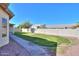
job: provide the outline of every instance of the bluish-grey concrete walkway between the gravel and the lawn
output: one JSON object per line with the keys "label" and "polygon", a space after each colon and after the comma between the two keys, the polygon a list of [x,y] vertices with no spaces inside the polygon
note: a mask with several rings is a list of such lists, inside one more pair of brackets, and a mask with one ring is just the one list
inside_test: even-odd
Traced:
{"label": "bluish-grey concrete walkway between the gravel and the lawn", "polygon": [[32,42],[26,41],[12,34],[10,34],[10,38],[15,40],[22,47],[24,47],[31,56],[51,56],[51,54],[47,50],[45,50],[41,46],[33,44]]}

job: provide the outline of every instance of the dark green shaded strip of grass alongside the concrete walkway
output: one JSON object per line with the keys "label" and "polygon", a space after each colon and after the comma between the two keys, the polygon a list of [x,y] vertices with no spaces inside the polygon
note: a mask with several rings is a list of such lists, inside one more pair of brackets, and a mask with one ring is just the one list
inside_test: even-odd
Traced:
{"label": "dark green shaded strip of grass alongside the concrete walkway", "polygon": [[48,47],[51,51],[53,51],[54,55],[56,55],[56,49],[57,49],[57,43],[56,42],[51,42],[43,38],[39,37],[31,37],[28,35],[22,35],[20,33],[15,33],[16,36],[23,38],[24,40],[31,41],[32,43],[35,43],[40,46],[45,46]]}

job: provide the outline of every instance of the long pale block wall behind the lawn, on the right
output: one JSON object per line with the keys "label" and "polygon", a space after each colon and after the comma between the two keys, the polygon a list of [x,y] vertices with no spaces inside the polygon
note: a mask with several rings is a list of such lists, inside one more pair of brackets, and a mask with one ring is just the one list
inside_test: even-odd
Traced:
{"label": "long pale block wall behind the lawn, on the right", "polygon": [[78,37],[79,29],[37,29],[35,33]]}

